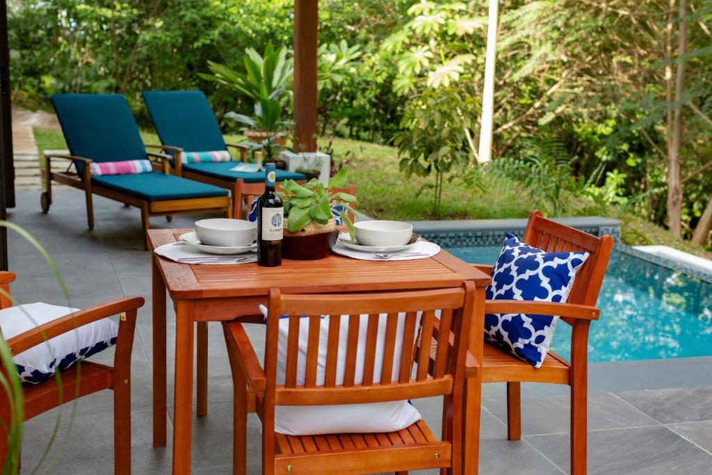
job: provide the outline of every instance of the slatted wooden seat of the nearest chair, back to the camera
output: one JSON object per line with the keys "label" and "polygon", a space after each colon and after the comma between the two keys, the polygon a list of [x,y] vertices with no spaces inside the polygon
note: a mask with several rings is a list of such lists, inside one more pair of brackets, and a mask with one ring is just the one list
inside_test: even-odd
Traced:
{"label": "slatted wooden seat of the nearest chair, back to the camera", "polygon": [[[353,464],[345,464],[339,474],[365,474],[403,469],[403,461],[412,463],[409,469],[448,466],[451,460],[449,442],[434,436],[423,420],[397,432],[375,434],[326,434],[290,436],[275,434],[276,471],[292,474],[323,473],[320,464],[336,454],[353,453]],[[373,449],[373,450],[371,450]],[[384,456],[392,450],[393,458]],[[373,456],[371,456],[373,455]]]}

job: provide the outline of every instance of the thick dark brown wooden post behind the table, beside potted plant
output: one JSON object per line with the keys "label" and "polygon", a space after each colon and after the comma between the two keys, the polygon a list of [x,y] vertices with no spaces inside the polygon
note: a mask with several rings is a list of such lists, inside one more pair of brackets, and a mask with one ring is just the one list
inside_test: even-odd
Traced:
{"label": "thick dark brown wooden post behind the table, beside potted plant", "polygon": [[294,0],[294,146],[316,151],[318,0]]}

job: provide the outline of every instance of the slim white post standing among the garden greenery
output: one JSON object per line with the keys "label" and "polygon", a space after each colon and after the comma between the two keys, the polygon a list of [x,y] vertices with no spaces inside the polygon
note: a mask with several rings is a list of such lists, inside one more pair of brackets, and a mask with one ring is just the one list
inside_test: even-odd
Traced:
{"label": "slim white post standing among the garden greenery", "polygon": [[487,21],[487,52],[485,56],[485,81],[482,93],[482,119],[480,121],[480,150],[478,162],[492,160],[492,122],[494,117],[494,71],[497,47],[497,3],[489,0]]}

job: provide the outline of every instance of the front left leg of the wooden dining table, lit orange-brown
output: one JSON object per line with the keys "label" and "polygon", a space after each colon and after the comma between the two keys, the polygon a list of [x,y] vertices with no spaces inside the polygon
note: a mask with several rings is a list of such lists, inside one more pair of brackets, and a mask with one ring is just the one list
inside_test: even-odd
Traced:
{"label": "front left leg of the wooden dining table, lit orange-brown", "polygon": [[194,322],[191,301],[176,301],[176,367],[173,407],[173,473],[189,474],[193,417]]}

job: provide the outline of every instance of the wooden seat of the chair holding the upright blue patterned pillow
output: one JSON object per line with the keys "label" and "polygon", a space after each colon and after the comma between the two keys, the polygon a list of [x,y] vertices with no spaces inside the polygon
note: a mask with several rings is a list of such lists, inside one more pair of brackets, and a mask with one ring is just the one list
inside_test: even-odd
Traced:
{"label": "wooden seat of the chair holding the upright blue patterned pillow", "polygon": [[528,381],[569,384],[570,364],[550,351],[541,367],[533,367],[495,345],[485,343],[482,382]]}

